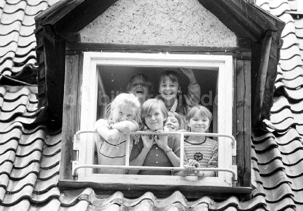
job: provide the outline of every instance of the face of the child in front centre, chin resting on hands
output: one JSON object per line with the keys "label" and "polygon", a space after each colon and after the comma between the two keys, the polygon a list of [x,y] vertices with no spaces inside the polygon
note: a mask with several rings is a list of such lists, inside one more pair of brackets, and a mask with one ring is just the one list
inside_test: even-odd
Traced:
{"label": "face of the child in front centre, chin resting on hands", "polygon": [[159,107],[148,113],[144,118],[149,129],[163,130],[165,118]]}

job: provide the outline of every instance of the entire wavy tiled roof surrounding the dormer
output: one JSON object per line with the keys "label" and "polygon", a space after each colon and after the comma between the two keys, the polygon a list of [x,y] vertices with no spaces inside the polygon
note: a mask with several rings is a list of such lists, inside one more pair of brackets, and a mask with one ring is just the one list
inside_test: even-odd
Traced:
{"label": "entire wavy tiled roof surrounding the dormer", "polygon": [[[0,73],[35,64],[34,16],[55,1],[0,0]],[[251,200],[188,201],[178,191],[164,199],[149,192],[136,199],[121,192],[102,197],[91,188],[60,192],[61,133],[22,125],[35,120],[37,87],[0,85],[0,210],[303,210],[303,19],[288,13],[297,9],[296,0],[256,3],[286,26],[271,109],[275,129],[251,141]]]}

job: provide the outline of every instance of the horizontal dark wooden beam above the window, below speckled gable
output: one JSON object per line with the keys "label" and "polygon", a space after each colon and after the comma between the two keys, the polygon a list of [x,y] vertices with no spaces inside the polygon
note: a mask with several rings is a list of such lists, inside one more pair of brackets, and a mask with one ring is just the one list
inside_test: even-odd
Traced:
{"label": "horizontal dark wooden beam above the window, below speckled gable", "polygon": [[127,52],[127,53],[171,53],[171,54],[216,54],[232,55],[235,58],[251,59],[250,48],[201,47],[166,45],[130,45],[102,43],[66,43],[66,54],[81,54],[83,51]]}

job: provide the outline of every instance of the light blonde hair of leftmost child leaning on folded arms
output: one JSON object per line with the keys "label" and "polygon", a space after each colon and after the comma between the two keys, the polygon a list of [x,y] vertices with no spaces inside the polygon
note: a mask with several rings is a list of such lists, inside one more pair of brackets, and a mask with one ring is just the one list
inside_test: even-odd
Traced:
{"label": "light blonde hair of leftmost child leaning on folded arms", "polygon": [[108,120],[112,120],[113,123],[116,123],[117,120],[113,119],[114,112],[118,108],[118,105],[124,104],[130,105],[135,110],[134,120],[138,122],[138,124],[141,123],[139,112],[140,102],[138,98],[131,93],[121,93],[116,96],[115,99],[106,106],[105,118]]}

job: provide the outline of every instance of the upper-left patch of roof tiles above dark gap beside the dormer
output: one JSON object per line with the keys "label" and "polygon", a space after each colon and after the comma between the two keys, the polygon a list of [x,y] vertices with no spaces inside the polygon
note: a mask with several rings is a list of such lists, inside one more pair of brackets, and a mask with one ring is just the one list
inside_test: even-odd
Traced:
{"label": "upper-left patch of roof tiles above dark gap beside the dormer", "polygon": [[34,17],[55,0],[0,1],[0,71],[6,75],[19,72],[36,62]]}

